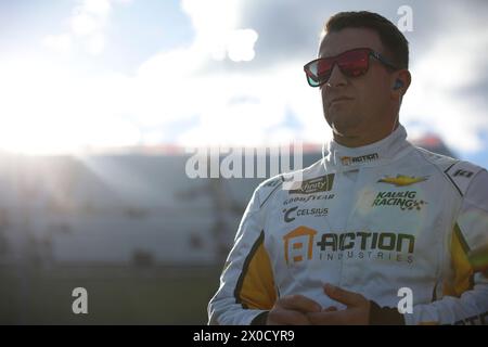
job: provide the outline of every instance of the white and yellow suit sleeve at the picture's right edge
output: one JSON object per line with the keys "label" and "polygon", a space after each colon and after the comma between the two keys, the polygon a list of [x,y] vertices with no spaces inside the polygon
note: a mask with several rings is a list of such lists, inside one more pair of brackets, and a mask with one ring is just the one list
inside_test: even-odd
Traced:
{"label": "white and yellow suit sleeve at the picture's right edge", "polygon": [[488,324],[488,174],[466,187],[449,240],[449,275],[442,298],[415,305],[407,324]]}

